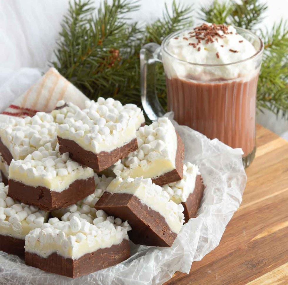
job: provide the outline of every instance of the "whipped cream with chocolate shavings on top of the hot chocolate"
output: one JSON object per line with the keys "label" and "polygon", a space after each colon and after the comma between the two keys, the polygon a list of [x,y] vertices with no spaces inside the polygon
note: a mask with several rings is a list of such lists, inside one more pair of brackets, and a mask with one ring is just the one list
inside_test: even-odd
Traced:
{"label": "whipped cream with chocolate shavings on top of the hot chocolate", "polygon": [[[248,59],[256,53],[255,47],[233,26],[202,24],[185,30],[171,38],[167,45],[168,53],[177,59],[194,64],[230,64]],[[246,61],[227,66],[205,67],[175,60],[163,53],[163,64],[169,78],[221,79],[237,78],[255,70],[255,62]]]}

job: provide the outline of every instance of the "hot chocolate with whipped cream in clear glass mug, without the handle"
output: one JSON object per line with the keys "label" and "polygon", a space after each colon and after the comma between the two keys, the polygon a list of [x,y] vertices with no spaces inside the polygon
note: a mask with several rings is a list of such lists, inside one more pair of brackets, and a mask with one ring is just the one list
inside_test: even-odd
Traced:
{"label": "hot chocolate with whipped cream in clear glass mug, without the handle", "polygon": [[179,124],[242,148],[244,160],[248,158],[246,166],[255,154],[262,52],[261,41],[255,44],[249,33],[232,26],[203,24],[168,37],[162,44],[168,110],[174,111]]}

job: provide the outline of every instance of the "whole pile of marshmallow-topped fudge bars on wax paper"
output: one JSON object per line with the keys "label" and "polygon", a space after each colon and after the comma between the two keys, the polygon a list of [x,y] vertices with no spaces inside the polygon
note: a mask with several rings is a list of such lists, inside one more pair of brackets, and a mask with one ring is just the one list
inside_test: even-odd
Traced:
{"label": "whole pile of marshmallow-topped fudge bars on wax paper", "polygon": [[145,125],[113,98],[85,106],[0,129],[0,250],[72,278],[126,260],[129,240],[172,246],[204,191],[168,118]]}

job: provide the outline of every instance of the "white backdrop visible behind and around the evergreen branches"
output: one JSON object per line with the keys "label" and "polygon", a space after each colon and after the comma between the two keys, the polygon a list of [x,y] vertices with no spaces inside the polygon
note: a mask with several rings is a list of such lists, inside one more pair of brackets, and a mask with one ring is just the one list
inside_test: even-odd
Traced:
{"label": "white backdrop visible behind and around the evergreen branches", "polygon": [[[193,4],[197,11],[200,3],[211,1],[182,0],[182,3]],[[172,0],[142,0],[140,11],[131,16],[138,21],[151,22],[161,16],[165,2],[169,6]],[[287,19],[288,1],[267,2],[269,11],[261,27],[271,28],[281,17]],[[95,3],[97,6],[100,0]],[[0,112],[48,69],[67,8],[67,0],[0,1]],[[196,12],[192,14],[195,16]],[[269,112],[259,114],[258,121],[288,139],[287,121],[277,120]],[[286,135],[283,134],[285,131]]]}

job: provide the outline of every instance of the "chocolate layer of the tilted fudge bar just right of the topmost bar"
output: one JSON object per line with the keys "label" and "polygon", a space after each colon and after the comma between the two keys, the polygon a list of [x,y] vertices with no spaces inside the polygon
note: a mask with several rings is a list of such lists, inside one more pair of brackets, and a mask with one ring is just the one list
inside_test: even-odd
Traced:
{"label": "chocolate layer of the tilted fudge bar just right of the topmost bar", "polygon": [[170,182],[181,180],[183,177],[183,159],[184,159],[184,143],[177,134],[177,152],[176,152],[176,158],[175,158],[175,169],[172,171],[166,172],[161,176],[158,176],[156,178],[152,178],[152,182],[157,185],[165,185],[169,184]]}

